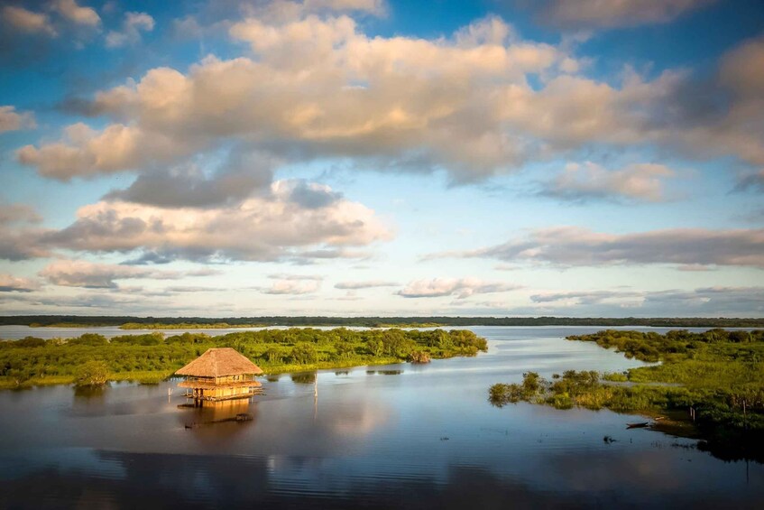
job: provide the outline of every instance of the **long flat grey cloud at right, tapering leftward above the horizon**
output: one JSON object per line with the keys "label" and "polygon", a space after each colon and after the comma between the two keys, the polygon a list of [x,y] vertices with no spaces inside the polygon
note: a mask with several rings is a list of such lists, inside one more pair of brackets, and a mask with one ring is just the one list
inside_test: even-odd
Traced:
{"label": "long flat grey cloud at right, tapering leftward above the horizon", "polygon": [[470,252],[435,256],[496,258],[558,265],[738,265],[764,268],[764,229],[676,228],[605,234],[581,227],[539,229],[529,236]]}

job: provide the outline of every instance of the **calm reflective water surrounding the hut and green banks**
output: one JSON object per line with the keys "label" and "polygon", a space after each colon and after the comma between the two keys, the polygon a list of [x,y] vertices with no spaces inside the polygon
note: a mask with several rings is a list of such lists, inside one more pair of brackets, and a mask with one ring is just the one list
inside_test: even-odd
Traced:
{"label": "calm reflective water surrounding the hut and green banks", "polygon": [[[626,430],[632,416],[487,402],[528,370],[640,364],[564,339],[597,328],[470,329],[488,354],[319,372],[318,398],[313,375],[201,409],[168,395],[177,381],[0,392],[0,508],[760,507],[760,464]],[[209,424],[236,413],[254,420]]]}

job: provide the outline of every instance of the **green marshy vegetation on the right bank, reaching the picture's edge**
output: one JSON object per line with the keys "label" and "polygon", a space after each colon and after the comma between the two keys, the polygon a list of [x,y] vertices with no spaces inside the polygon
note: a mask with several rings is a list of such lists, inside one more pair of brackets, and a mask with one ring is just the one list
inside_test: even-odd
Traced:
{"label": "green marshy vegetation on the right bank, reaching the picture's edge", "polygon": [[716,457],[764,461],[764,330],[609,329],[567,339],[660,363],[623,374],[569,370],[551,381],[529,372],[520,384],[492,385],[491,403],[643,414],[658,419],[653,429],[700,439]]}

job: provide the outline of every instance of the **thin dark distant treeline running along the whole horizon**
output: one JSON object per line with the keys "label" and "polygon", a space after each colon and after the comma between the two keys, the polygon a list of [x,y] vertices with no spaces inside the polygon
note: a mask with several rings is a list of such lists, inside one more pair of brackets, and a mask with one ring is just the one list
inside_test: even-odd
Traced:
{"label": "thin dark distant treeline running along the whole horizon", "polygon": [[216,324],[231,326],[651,326],[662,328],[764,328],[764,319],[735,318],[576,318],[576,317],[132,317],[79,315],[14,315],[0,317],[0,325],[121,326],[134,324]]}

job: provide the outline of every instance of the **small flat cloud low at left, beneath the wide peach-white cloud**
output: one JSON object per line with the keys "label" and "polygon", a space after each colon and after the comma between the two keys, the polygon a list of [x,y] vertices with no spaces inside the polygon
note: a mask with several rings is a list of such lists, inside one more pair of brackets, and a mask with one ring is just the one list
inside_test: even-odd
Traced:
{"label": "small flat cloud low at left, beneath the wide peach-white cloud", "polygon": [[116,280],[149,278],[152,280],[179,280],[188,276],[206,276],[202,272],[161,271],[146,267],[120,264],[97,264],[84,260],[60,260],[44,267],[40,276],[48,282],[65,287],[88,289],[116,289]]}

